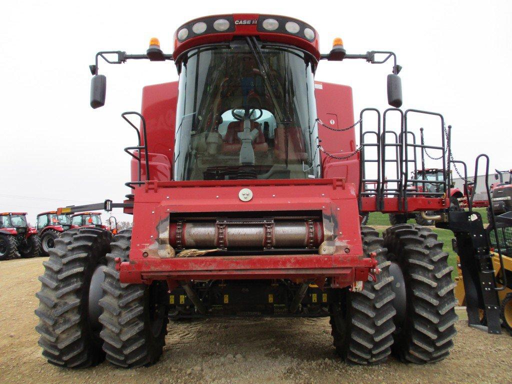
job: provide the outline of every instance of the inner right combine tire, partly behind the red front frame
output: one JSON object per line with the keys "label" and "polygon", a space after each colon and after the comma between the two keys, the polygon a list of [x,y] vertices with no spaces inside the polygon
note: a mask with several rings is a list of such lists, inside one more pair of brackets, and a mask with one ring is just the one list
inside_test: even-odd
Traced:
{"label": "inner right combine tire, partly behind the red front frame", "polygon": [[376,282],[365,282],[361,292],[336,290],[338,300],[331,306],[330,323],[338,355],[349,364],[375,365],[391,353],[395,294],[382,239],[371,227],[362,227],[361,234],[364,253],[377,254],[380,273]]}

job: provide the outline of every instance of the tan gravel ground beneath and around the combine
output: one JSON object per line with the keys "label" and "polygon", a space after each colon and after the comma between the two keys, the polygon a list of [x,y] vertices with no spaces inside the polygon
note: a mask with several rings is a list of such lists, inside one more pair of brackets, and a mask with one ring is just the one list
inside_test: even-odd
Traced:
{"label": "tan gravel ground beneath and around the combine", "polygon": [[512,383],[512,337],[468,328],[462,320],[451,356],[427,366],[394,358],[376,367],[348,366],[334,354],[326,318],[251,318],[169,324],[164,354],[151,368],[104,362],[61,369],[41,356],[34,330],[43,260],[0,262],[2,383]]}

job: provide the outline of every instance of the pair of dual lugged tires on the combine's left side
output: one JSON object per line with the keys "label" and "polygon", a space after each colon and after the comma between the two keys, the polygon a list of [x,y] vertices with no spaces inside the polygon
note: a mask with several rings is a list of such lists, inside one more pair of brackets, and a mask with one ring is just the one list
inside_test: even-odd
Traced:
{"label": "pair of dual lugged tires on the combine's left side", "polygon": [[[162,353],[167,317],[151,297],[161,287],[120,284],[115,259],[127,260],[130,231],[79,228],[49,249],[36,294],[42,354],[68,368],[95,366],[105,357],[121,367],[151,365]],[[105,292],[105,293],[103,293]]]}

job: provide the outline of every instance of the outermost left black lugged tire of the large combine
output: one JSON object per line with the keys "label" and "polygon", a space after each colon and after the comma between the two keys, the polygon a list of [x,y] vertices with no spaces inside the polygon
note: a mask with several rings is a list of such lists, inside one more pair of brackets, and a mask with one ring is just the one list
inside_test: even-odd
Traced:
{"label": "outermost left black lugged tire of the large combine", "polygon": [[104,359],[99,329],[89,316],[89,290],[94,271],[106,263],[110,240],[110,232],[103,229],[72,229],[55,240],[50,258],[42,263],[36,331],[42,355],[51,364],[86,368]]}

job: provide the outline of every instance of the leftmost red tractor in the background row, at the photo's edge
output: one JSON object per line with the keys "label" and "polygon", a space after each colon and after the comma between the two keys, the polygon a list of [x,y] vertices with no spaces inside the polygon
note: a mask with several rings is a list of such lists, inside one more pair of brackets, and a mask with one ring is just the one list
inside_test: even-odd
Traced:
{"label": "leftmost red tractor in the background row, at the photo's edge", "polygon": [[0,213],[0,260],[40,256],[37,230],[27,224],[26,212]]}

